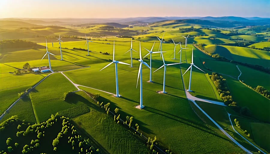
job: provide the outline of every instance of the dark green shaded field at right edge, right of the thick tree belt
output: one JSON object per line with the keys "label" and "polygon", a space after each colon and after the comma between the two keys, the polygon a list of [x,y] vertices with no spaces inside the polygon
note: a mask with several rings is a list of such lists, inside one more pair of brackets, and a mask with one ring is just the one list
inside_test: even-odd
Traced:
{"label": "dark green shaded field at right edge, right of the thick tree belt", "polygon": [[237,102],[239,106],[247,106],[251,111],[252,117],[263,122],[270,122],[269,99],[246,87],[237,80],[226,76],[224,76],[224,78],[226,78],[232,99]]}

